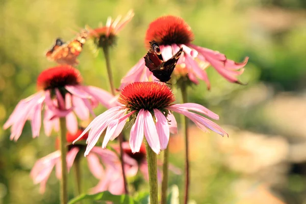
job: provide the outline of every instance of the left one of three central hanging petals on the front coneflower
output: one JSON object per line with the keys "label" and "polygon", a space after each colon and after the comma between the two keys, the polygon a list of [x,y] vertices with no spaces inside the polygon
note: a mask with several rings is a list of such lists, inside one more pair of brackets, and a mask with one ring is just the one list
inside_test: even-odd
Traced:
{"label": "left one of three central hanging petals on the front coneflower", "polygon": [[130,134],[130,146],[132,152],[138,152],[144,135],[144,110],[141,109],[137,115],[136,121],[132,126]]}

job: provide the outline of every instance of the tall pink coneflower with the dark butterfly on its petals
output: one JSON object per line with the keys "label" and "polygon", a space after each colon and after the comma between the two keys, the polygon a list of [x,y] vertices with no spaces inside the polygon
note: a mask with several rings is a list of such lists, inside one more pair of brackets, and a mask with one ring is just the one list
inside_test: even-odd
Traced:
{"label": "tall pink coneflower with the dark butterfly on its petals", "polygon": [[[186,76],[188,73],[189,80],[195,84],[198,84],[198,78],[205,81],[210,89],[210,81],[205,71],[209,65],[214,67],[227,81],[241,84],[237,76],[243,73],[243,67],[248,61],[247,57],[242,63],[228,60],[224,54],[192,44],[193,38],[191,28],[183,18],[162,16],[150,23],[145,36],[145,44],[149,47],[149,42],[155,40],[160,46],[164,61],[170,59],[182,47],[184,54],[176,67],[179,67],[180,74],[184,73]],[[148,71],[142,58],[121,80],[120,89],[128,83],[146,81],[150,76],[152,73]]]}

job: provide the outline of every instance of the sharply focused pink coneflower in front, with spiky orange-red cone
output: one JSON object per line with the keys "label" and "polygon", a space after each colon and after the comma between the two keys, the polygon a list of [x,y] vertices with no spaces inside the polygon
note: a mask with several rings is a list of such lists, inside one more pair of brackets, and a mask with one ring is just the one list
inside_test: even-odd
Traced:
{"label": "sharply focused pink coneflower in front, with spiky orange-red cone", "polygon": [[118,98],[121,106],[113,107],[97,116],[80,135],[79,138],[90,130],[86,140],[88,145],[85,156],[89,154],[100,135],[107,129],[102,143],[102,147],[106,148],[107,143],[120,134],[127,119],[133,122],[130,133],[132,152],[140,151],[145,136],[151,149],[159,154],[161,150],[167,148],[169,142],[170,130],[167,117],[171,111],[185,115],[203,131],[207,131],[208,128],[222,136],[227,135],[216,123],[189,111],[195,111],[213,119],[219,119],[217,114],[198,104],[171,105],[174,100],[173,92],[164,83],[135,82],[126,85]]}

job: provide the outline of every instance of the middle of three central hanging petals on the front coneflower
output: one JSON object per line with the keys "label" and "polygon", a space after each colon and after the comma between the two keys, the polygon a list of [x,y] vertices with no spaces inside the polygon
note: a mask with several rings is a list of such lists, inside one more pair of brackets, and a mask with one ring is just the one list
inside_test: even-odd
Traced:
{"label": "middle of three central hanging petals on the front coneflower", "polygon": [[160,144],[160,140],[158,137],[158,133],[156,130],[156,126],[155,126],[153,117],[149,111],[144,111],[143,130],[144,130],[144,135],[145,135],[145,138],[149,146],[156,154],[159,154],[159,152],[161,151],[161,144]]}

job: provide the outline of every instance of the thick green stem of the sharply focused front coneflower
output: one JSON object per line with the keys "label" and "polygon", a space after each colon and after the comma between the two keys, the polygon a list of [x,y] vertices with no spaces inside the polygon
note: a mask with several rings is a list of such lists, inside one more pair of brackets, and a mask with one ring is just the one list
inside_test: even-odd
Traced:
{"label": "thick green stem of the sharply focused front coneflower", "polygon": [[150,203],[157,204],[158,203],[157,157],[156,153],[148,145],[146,139],[144,141],[145,141],[148,172],[149,172]]}

